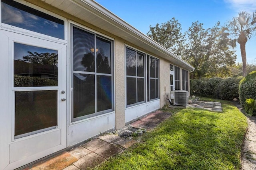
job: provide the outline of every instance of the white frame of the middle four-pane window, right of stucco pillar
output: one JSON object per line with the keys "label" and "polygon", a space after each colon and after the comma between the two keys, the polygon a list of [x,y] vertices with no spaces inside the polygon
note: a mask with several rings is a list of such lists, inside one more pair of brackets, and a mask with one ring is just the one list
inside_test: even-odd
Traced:
{"label": "white frame of the middle four-pane window, right of stucco pillar", "polygon": [[[127,67],[127,62],[126,62],[126,59],[127,59],[127,49],[130,49],[130,50],[133,50],[133,51],[136,51],[136,76],[134,75],[127,75],[127,70],[126,70],[126,67]],[[143,54],[144,55],[144,77],[141,77],[141,76],[138,76],[138,67],[137,67],[137,54],[140,53],[140,54]],[[142,103],[146,103],[146,53],[144,53],[143,51],[141,50],[138,50],[134,47],[130,47],[128,45],[125,45],[125,105],[126,105],[126,108],[128,107],[132,107],[132,106],[136,106],[136,105],[140,105]],[[132,103],[130,105],[127,105],[127,78],[136,78],[136,103]],[[138,102],[138,79],[144,79],[144,101],[140,101]]]}

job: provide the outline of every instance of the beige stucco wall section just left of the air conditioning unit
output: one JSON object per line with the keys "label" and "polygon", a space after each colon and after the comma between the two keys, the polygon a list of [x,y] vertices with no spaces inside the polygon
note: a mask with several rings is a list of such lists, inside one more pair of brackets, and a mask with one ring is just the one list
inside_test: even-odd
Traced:
{"label": "beige stucco wall section just left of the air conditioning unit", "polygon": [[[166,94],[170,93],[170,62],[165,59],[160,59],[160,107],[166,104]],[[170,95],[170,94],[169,94]]]}

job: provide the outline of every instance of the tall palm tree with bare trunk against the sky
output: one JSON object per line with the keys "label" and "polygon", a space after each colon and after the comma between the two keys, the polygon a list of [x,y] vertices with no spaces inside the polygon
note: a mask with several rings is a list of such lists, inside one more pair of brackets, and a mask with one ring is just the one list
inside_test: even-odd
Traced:
{"label": "tall palm tree with bare trunk against the sky", "polygon": [[240,51],[243,62],[243,75],[247,75],[245,44],[256,33],[256,11],[251,14],[241,11],[238,17],[228,20],[222,27],[222,36],[226,43],[232,48],[236,47],[236,42],[240,44]]}

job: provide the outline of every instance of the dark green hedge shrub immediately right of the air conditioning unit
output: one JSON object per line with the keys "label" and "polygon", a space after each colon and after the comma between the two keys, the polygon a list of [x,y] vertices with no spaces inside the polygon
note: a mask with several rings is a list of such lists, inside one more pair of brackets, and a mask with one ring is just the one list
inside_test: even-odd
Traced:
{"label": "dark green hedge shrub immediately right of the air conditioning unit", "polygon": [[190,95],[204,96],[206,83],[199,79],[190,79]]}

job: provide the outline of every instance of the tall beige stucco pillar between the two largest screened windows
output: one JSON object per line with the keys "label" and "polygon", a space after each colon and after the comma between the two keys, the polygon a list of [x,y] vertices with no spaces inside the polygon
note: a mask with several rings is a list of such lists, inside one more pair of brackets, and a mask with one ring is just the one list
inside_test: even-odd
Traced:
{"label": "tall beige stucco pillar between the two largest screened windows", "polygon": [[116,129],[125,126],[125,60],[124,42],[122,39],[115,40],[115,111]]}

